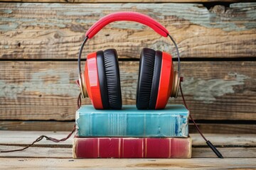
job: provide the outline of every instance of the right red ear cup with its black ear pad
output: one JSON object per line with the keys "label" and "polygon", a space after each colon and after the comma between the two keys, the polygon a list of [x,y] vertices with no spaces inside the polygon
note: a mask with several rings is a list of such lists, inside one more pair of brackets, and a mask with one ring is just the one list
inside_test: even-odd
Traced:
{"label": "right red ear cup with its black ear pad", "polygon": [[171,94],[173,79],[171,55],[144,48],[139,62],[137,108],[165,108]]}

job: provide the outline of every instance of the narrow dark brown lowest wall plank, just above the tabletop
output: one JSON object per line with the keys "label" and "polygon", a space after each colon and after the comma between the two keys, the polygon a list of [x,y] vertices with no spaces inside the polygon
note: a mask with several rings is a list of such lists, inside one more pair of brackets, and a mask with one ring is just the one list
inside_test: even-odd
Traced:
{"label": "narrow dark brown lowest wall plank, just above the tabletop", "polygon": [[[28,130],[28,131],[67,131],[73,130],[75,120],[61,121],[11,121],[1,120],[0,130]],[[220,124],[220,123],[198,123],[203,133],[215,134],[256,134],[256,125],[247,124]],[[189,124],[189,132],[197,133],[195,126]]]}

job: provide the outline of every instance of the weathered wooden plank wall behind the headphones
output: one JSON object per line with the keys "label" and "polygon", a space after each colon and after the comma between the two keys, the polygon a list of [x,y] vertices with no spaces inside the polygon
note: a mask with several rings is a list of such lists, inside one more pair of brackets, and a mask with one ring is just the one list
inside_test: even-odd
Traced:
{"label": "weathered wooden plank wall behind the headphones", "polygon": [[[86,30],[108,13],[138,11],[166,26],[178,43],[183,91],[202,131],[256,133],[256,3],[157,2],[1,0],[0,130],[71,130],[79,94],[77,56]],[[123,103],[134,104],[142,47],[176,57],[169,44],[151,28],[117,22],[88,42],[84,58],[116,48]],[[182,103],[181,97],[169,103]],[[196,132],[192,125],[190,132]]]}

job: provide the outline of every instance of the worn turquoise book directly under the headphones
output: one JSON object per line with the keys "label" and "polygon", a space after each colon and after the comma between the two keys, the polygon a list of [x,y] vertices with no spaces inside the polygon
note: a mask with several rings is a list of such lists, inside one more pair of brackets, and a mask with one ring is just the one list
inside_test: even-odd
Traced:
{"label": "worn turquoise book directly under the headphones", "polygon": [[188,137],[189,112],[183,105],[163,110],[95,110],[82,106],[75,114],[77,137]]}

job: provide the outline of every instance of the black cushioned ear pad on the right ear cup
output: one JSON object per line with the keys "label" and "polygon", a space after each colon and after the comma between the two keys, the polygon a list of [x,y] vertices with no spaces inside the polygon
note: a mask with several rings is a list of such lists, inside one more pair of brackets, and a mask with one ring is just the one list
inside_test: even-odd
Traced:
{"label": "black cushioned ear pad on the right ear cup", "polygon": [[138,109],[154,109],[158,96],[162,52],[150,48],[142,50],[139,60],[136,106]]}

